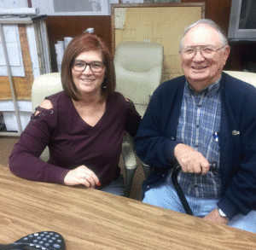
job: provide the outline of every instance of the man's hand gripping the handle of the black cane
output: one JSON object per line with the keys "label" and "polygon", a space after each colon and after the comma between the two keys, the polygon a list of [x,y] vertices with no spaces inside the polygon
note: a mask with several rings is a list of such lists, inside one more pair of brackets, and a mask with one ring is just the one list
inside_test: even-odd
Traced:
{"label": "man's hand gripping the handle of the black cane", "polygon": [[177,144],[174,148],[174,155],[183,172],[206,175],[209,171],[210,164],[208,160],[188,145],[183,143]]}

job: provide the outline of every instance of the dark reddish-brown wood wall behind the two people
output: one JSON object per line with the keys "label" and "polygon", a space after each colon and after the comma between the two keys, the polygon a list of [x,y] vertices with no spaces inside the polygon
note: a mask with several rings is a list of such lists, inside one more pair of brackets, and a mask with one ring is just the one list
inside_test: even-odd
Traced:
{"label": "dark reddish-brown wood wall behind the two people", "polygon": [[[181,3],[206,3],[205,17],[214,20],[228,32],[230,20],[231,0],[181,0]],[[55,48],[57,40],[63,40],[64,37],[73,37],[86,30],[88,27],[94,27],[95,31],[108,41],[111,45],[111,16],[49,16],[46,20],[49,33],[49,46],[52,59],[53,72],[56,72]],[[233,52],[231,51],[231,54]],[[228,63],[230,65],[230,63]],[[236,65],[239,65],[237,63]],[[239,67],[239,66],[238,66]]]}

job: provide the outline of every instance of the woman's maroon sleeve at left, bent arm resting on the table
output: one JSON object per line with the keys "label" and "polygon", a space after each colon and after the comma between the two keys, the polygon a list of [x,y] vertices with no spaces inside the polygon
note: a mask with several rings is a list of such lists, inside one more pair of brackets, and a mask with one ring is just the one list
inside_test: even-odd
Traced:
{"label": "woman's maroon sleeve at left, bent arm resting on the table", "polygon": [[25,131],[9,157],[9,169],[15,175],[29,180],[64,183],[68,170],[51,165],[39,159],[44,148],[49,145],[50,138],[57,124],[56,109],[37,108],[41,111],[32,114]]}

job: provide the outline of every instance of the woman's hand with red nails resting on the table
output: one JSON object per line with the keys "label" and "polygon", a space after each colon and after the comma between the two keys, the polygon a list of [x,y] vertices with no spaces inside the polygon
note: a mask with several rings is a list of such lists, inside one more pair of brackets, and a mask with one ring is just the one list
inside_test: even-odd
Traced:
{"label": "woman's hand with red nails resting on the table", "polygon": [[67,186],[82,184],[87,188],[95,188],[100,186],[100,180],[94,172],[92,172],[88,167],[82,165],[77,168],[67,172],[64,178],[64,183]]}

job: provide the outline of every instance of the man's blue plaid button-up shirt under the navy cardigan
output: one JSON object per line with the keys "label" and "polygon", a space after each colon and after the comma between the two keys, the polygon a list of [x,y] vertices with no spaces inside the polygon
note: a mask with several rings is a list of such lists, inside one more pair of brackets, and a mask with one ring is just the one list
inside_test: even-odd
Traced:
{"label": "man's blue plaid button-up shirt under the navy cardigan", "polygon": [[[179,172],[177,180],[185,195],[197,198],[218,198],[221,193],[219,174],[219,146],[213,137],[220,128],[221,103],[219,94],[220,79],[196,95],[185,84],[183,103],[177,125],[177,142],[189,145],[201,152],[211,163],[217,162],[217,171],[206,176]],[[171,181],[171,173],[167,183]]]}

